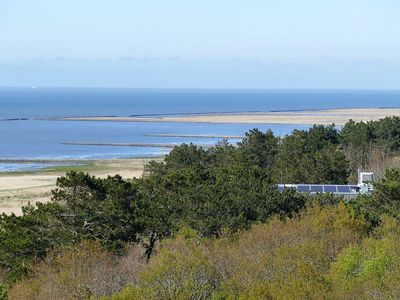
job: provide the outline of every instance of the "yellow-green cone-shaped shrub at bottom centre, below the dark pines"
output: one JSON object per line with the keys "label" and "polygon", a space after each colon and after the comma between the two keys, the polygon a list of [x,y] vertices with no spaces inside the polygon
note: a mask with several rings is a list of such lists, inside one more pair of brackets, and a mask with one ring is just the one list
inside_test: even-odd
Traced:
{"label": "yellow-green cone-shaped shrub at bottom centre, below the dark pines", "polygon": [[183,229],[162,243],[139,285],[114,299],[209,299],[218,281],[202,240],[195,231]]}

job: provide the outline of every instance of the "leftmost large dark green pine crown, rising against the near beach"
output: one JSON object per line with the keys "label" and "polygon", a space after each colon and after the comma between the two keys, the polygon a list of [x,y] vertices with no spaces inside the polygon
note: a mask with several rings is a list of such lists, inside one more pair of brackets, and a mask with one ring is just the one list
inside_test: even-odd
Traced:
{"label": "leftmost large dark green pine crown, rising against the near beach", "polygon": [[95,239],[120,251],[125,242],[138,240],[142,226],[136,214],[134,182],[119,175],[100,179],[71,171],[57,179],[52,193],[52,200],[65,210],[59,217],[71,231],[74,242]]}

